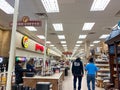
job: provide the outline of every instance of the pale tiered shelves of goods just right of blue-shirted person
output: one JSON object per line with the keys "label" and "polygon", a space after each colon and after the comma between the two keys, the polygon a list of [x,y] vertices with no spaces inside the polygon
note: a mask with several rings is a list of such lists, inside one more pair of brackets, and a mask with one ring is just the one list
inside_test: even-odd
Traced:
{"label": "pale tiered shelves of goods just right of blue-shirted person", "polygon": [[104,61],[103,59],[99,59],[95,61],[96,66],[100,68],[97,72],[96,82],[98,87],[104,87],[104,80],[109,80],[110,76],[110,68],[109,62]]}

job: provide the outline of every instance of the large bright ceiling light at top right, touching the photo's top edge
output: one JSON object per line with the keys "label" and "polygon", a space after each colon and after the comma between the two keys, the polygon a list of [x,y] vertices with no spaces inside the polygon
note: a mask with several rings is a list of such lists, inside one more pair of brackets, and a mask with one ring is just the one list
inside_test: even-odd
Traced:
{"label": "large bright ceiling light at top right, touching the photo's top edge", "polygon": [[109,2],[110,0],[94,0],[90,11],[103,11]]}

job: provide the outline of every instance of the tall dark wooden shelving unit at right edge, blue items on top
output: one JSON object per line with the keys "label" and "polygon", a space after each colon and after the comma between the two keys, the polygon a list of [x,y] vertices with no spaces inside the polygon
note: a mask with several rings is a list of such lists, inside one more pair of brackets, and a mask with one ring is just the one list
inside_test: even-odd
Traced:
{"label": "tall dark wooden shelving unit at right edge, blue items on top", "polygon": [[109,51],[110,81],[115,89],[120,90],[120,34],[116,34],[112,37],[111,33],[110,39],[106,43],[108,44]]}

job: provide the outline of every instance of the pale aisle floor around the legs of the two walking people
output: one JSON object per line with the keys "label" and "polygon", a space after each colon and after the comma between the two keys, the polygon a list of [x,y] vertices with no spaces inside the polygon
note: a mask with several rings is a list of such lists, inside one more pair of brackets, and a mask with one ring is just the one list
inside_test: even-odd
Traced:
{"label": "pale aisle floor around the legs of the two walking people", "polygon": [[[65,76],[62,90],[73,90],[73,77],[70,71],[69,71],[68,76]],[[86,76],[83,77],[81,90],[87,90]],[[96,87],[95,90],[104,90],[104,89]]]}

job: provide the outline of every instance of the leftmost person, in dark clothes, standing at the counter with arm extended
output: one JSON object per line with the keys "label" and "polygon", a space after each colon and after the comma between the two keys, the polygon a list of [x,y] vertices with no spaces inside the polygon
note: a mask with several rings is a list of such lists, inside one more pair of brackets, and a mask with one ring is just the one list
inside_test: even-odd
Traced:
{"label": "leftmost person, in dark clothes, standing at the counter with arm extended", "polygon": [[16,61],[15,65],[15,83],[21,84],[23,83],[23,73],[27,72],[28,70],[22,68],[23,63],[21,61]]}

